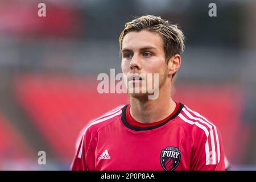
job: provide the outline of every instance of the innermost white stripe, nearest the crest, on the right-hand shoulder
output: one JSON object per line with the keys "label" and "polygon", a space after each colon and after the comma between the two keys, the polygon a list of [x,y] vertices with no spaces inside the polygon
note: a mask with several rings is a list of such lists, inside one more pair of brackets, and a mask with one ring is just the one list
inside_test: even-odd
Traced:
{"label": "innermost white stripe, nearest the crest, on the right-hand shoulder", "polygon": [[209,142],[208,142],[209,131],[207,130],[207,128],[204,125],[201,125],[199,122],[196,122],[196,121],[193,122],[193,121],[185,118],[184,115],[181,113],[178,115],[178,117],[180,117],[184,122],[187,122],[190,125],[196,125],[200,129],[204,130],[204,133],[207,136],[207,141],[205,143],[205,155],[206,155],[205,164],[209,165],[210,164],[210,150],[209,150]]}

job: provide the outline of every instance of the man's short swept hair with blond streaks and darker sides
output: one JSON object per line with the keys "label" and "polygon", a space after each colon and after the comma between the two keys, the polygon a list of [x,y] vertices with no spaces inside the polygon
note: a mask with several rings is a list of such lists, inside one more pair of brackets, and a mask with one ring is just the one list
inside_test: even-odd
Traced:
{"label": "man's short swept hair with blond streaks and darker sides", "polygon": [[123,38],[126,34],[133,31],[152,31],[158,32],[163,38],[163,47],[166,61],[172,56],[184,51],[184,35],[176,24],[169,23],[160,16],[145,15],[125,24],[125,29],[119,36],[120,52],[122,50]]}

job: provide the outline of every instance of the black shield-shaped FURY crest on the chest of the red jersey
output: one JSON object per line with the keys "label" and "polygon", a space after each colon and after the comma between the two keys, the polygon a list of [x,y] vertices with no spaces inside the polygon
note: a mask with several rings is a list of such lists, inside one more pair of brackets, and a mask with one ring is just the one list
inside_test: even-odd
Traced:
{"label": "black shield-shaped FURY crest on the chest of the red jersey", "polygon": [[164,170],[172,171],[180,163],[181,152],[176,147],[166,147],[163,149],[160,156],[160,162]]}

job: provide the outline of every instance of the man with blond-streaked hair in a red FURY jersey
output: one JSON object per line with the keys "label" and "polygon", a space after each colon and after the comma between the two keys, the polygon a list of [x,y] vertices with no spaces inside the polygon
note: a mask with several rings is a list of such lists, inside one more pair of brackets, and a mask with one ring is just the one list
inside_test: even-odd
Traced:
{"label": "man with blond-streaked hair in a red FURY jersey", "polygon": [[171,98],[183,32],[159,16],[141,16],[126,23],[119,44],[130,104],[85,127],[72,170],[224,170],[220,131]]}

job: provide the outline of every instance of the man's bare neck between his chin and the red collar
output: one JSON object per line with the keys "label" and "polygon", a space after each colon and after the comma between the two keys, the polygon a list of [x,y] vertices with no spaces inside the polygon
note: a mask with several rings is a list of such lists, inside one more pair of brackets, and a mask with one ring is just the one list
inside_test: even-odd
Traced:
{"label": "man's bare neck between his chin and the red collar", "polygon": [[[162,95],[163,96],[163,95]],[[138,122],[151,123],[167,118],[174,110],[176,103],[170,95],[165,95],[157,100],[140,101],[130,98],[130,114]],[[164,108],[164,109],[163,109]]]}

